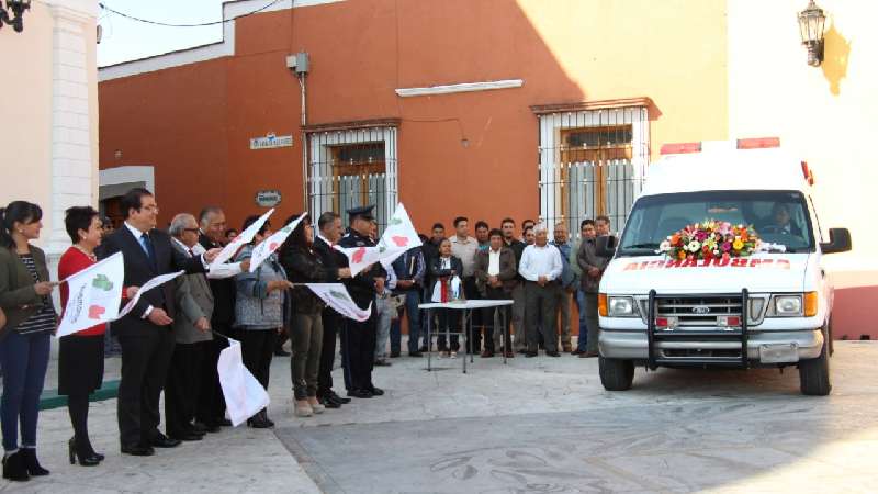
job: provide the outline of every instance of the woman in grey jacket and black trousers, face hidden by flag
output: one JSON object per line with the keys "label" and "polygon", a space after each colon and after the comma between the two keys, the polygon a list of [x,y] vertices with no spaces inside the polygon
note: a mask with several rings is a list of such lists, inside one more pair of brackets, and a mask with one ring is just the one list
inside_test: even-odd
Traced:
{"label": "woman in grey jacket and black trousers, face hidden by flag", "polygon": [[[241,231],[247,229],[259,216],[244,221]],[[271,225],[264,225],[254,237],[254,242],[241,248],[235,261],[243,262],[252,257],[254,248],[271,236]],[[284,299],[292,284],[286,281],[286,272],[278,262],[275,254],[269,256],[254,272],[241,272],[235,277],[237,299],[235,301],[235,326],[240,338],[240,352],[244,366],[268,391],[271,357],[278,334],[288,317],[284,314]],[[247,420],[247,425],[263,429],[274,427],[268,418],[268,411],[261,409]]]}

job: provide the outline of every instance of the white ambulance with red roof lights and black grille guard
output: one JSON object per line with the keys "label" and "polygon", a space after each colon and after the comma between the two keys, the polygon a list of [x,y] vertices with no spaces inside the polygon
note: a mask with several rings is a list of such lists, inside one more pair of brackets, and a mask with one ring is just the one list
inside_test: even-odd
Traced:
{"label": "white ambulance with red roof lights and black grille guard", "polygon": [[[797,366],[803,394],[830,393],[833,288],[821,259],[849,250],[851,235],[823,235],[808,165],[779,144],[662,147],[615,254],[605,251],[612,256],[598,296],[605,389],[630,389],[635,366]],[[769,247],[712,259],[661,251],[674,233],[706,220],[748,225]]]}

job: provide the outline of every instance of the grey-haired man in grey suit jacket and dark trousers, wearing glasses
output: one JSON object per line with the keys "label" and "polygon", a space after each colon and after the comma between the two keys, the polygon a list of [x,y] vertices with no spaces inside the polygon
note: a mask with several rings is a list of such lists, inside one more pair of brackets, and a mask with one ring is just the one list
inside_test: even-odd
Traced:
{"label": "grey-haired man in grey suit jacket and dark trousers, wearing glasses", "polygon": [[[191,214],[173,217],[168,231],[171,246],[185,255],[198,255],[199,225]],[[183,440],[200,440],[204,430],[196,429],[195,416],[199,389],[204,381],[202,360],[206,347],[213,340],[211,315],[214,300],[211,285],[204,273],[184,274],[175,279],[175,303],[177,317],[173,321],[176,345],[168,381],[165,385],[165,416],[168,436]]]}

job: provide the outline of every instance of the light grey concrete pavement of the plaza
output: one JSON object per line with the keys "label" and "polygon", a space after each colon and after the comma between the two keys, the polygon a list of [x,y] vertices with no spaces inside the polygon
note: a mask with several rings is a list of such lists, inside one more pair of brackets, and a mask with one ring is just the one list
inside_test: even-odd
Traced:
{"label": "light grey concrete pavement of the plaza", "polygon": [[[92,404],[98,468],[66,462],[64,409],[41,414],[52,475],[10,492],[878,492],[878,344],[837,343],[829,397],[788,369],[638,369],[608,393],[596,359],[393,359],[387,394],[292,416],[289,360],[272,366],[273,431],[119,454],[115,401]],[[340,373],[336,371],[337,382]],[[341,388],[336,385],[337,391]]]}

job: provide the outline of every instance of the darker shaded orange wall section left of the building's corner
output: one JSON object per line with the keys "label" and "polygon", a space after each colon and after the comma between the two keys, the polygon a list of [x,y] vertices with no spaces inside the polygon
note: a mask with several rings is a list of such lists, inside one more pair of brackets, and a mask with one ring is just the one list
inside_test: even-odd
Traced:
{"label": "darker shaded orange wall section left of the building's corner", "polygon": [[155,166],[160,224],[226,195],[227,63],[100,83],[100,167]]}

